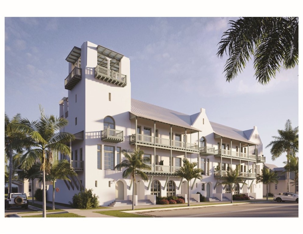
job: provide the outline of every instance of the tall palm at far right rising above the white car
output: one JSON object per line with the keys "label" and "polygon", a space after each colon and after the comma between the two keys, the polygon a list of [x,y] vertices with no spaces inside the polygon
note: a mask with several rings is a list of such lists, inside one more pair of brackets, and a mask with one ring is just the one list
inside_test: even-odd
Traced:
{"label": "tall palm at far right rising above the white car", "polygon": [[[288,119],[285,123],[284,130],[278,130],[279,136],[273,137],[267,146],[270,147],[270,153],[272,154],[271,159],[274,161],[280,157],[283,153],[286,153],[287,164],[289,163],[289,155],[295,155],[299,151],[299,134],[298,127],[294,129],[291,126],[291,121]],[[287,192],[289,192],[289,172],[287,172]]]}

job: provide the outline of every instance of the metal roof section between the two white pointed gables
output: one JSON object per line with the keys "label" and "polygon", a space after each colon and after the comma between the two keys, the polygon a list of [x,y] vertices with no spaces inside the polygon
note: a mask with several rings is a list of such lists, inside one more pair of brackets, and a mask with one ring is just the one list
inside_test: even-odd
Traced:
{"label": "metal roof section between the two white pointed gables", "polygon": [[214,133],[221,137],[256,145],[256,143],[248,140],[248,137],[244,133],[245,131],[224,126],[222,124],[214,123],[214,122],[210,122],[210,125],[212,126]]}

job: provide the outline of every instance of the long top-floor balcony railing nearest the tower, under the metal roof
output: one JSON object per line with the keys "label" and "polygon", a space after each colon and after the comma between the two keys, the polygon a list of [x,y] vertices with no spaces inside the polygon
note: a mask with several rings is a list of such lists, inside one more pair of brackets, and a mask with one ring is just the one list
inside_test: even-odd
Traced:
{"label": "long top-floor balcony railing nearest the tower, under the metal roof", "polygon": [[177,151],[190,151],[198,153],[198,145],[185,143],[177,140],[169,140],[160,137],[152,137],[143,134],[130,135],[130,144],[139,144],[142,146],[155,146],[162,149],[175,149]]}

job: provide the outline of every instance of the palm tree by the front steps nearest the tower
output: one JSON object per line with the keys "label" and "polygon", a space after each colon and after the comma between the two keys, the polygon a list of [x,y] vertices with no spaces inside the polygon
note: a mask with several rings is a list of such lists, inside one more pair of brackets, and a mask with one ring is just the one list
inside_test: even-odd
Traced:
{"label": "palm tree by the front steps nearest the tower", "polygon": [[126,168],[122,173],[122,177],[124,179],[131,177],[133,181],[133,204],[132,209],[134,210],[134,184],[136,182],[136,175],[139,175],[141,179],[146,182],[148,181],[147,175],[141,171],[141,169],[150,170],[150,167],[146,165],[146,163],[150,163],[149,158],[144,158],[144,151],[140,150],[140,148],[136,148],[134,152],[130,150],[122,150],[121,151],[125,159],[118,165],[116,165],[115,169],[121,170]]}

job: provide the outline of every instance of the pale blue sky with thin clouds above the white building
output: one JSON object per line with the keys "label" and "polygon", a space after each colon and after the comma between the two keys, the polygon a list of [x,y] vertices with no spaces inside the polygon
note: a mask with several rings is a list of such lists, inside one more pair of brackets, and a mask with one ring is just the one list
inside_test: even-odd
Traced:
{"label": "pale blue sky with thin clouds above the white building", "polygon": [[91,41],[130,58],[132,98],[186,114],[205,108],[210,121],[241,130],[257,126],[266,163],[283,166],[285,157],[271,161],[265,146],[287,119],[298,126],[298,66],[263,86],[250,61],[226,82],[227,56],[217,58],[217,44],[236,19],[6,17],[5,113],[35,120],[41,104],[46,114],[59,115],[58,102],[67,96],[65,59],[73,46]]}

